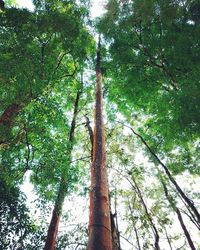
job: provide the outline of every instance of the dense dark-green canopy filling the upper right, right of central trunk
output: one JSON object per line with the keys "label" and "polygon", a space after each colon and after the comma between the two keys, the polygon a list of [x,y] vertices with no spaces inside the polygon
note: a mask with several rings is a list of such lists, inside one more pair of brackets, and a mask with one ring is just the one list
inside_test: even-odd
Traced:
{"label": "dense dark-green canopy filling the upper right, right of central trunk", "polygon": [[[109,1],[97,24],[109,42],[109,97],[149,115],[169,148],[199,134],[198,1]],[[195,15],[195,14],[194,14]],[[125,103],[125,104],[124,104]],[[128,114],[127,114],[128,113]]]}

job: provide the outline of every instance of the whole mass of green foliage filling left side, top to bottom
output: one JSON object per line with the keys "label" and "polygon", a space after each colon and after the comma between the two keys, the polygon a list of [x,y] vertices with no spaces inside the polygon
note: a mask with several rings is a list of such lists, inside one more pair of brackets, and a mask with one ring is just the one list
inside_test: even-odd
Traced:
{"label": "whole mass of green foliage filling left side, top to bottom", "polygon": [[81,164],[72,164],[69,133],[81,74],[94,51],[86,3],[34,4],[31,12],[6,3],[0,13],[2,249],[43,248],[46,226],[32,222],[19,189],[27,173],[41,207],[55,201],[63,176],[67,193],[83,174]]}

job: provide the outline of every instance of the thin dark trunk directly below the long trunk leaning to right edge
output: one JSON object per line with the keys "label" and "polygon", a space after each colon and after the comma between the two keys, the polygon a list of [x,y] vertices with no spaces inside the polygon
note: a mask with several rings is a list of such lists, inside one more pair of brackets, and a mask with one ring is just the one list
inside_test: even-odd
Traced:
{"label": "thin dark trunk directly below the long trunk leaning to right edge", "polygon": [[191,250],[196,250],[196,248],[195,248],[195,246],[194,246],[194,243],[193,243],[193,241],[192,241],[192,239],[191,239],[191,236],[190,236],[190,234],[189,234],[189,232],[188,232],[188,230],[187,230],[187,227],[186,227],[185,224],[184,224],[184,221],[183,221],[181,212],[180,212],[179,208],[175,205],[175,202],[174,202],[173,198],[169,195],[167,186],[166,186],[164,180],[162,179],[162,177],[161,177],[161,183],[162,183],[162,185],[163,185],[163,189],[164,189],[164,192],[165,192],[165,196],[166,196],[166,198],[167,198],[169,204],[171,205],[171,207],[173,208],[173,210],[174,210],[175,213],[177,214],[179,223],[180,223],[180,225],[181,225],[181,227],[182,227],[182,229],[183,229],[183,232],[184,232],[184,234],[185,234],[185,237],[186,237],[186,239],[187,239],[187,241],[188,241],[188,244],[189,244]]}

